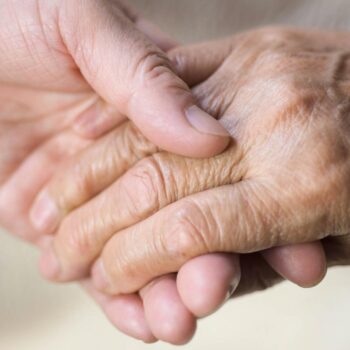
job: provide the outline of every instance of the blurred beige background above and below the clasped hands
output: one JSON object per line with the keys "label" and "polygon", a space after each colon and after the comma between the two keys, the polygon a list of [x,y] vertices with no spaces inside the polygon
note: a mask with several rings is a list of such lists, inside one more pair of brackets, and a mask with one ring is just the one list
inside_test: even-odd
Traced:
{"label": "blurred beige background above and below the clasped hands", "polygon": [[[286,23],[350,29],[349,0],[133,0],[182,42]],[[166,350],[118,333],[76,286],[37,273],[36,252],[0,232],[0,350]],[[232,300],[203,320],[191,350],[348,350],[350,270],[332,270],[312,290],[288,283]]]}

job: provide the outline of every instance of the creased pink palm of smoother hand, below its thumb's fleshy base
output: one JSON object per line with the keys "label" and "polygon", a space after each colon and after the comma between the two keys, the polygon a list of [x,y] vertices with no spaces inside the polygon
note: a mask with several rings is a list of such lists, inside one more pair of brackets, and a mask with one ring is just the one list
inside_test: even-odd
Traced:
{"label": "creased pink palm of smoother hand, below its thumb's fleshy base", "polygon": [[91,93],[0,87],[5,101],[0,110],[0,220],[12,232],[28,235],[26,217],[35,193],[87,143],[70,126],[94,98]]}

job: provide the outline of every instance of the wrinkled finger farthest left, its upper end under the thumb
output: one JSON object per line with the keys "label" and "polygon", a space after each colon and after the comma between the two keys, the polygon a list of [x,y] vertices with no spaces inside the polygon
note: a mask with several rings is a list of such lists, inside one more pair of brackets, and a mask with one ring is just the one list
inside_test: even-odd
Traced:
{"label": "wrinkled finger farthest left, its upper end under the thumb", "polygon": [[52,233],[71,210],[156,151],[131,123],[123,124],[73,158],[38,194],[30,210],[33,226]]}

